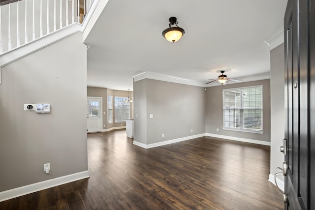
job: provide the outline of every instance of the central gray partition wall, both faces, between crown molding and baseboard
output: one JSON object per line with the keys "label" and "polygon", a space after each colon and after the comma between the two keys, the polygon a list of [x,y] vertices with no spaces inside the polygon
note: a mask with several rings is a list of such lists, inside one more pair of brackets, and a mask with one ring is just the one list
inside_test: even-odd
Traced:
{"label": "central gray partition wall, both faces, between crown molding and baseboard", "polygon": [[[134,114],[138,114],[138,119],[134,121],[135,141],[153,144],[205,133],[204,88],[144,79],[134,82],[134,92]],[[139,104],[144,101],[146,106]],[[153,114],[153,118],[150,118],[150,114]],[[140,122],[142,120],[147,122],[146,128]],[[139,122],[141,125],[138,125]],[[143,129],[147,131],[146,140]],[[138,136],[137,132],[141,134]]]}

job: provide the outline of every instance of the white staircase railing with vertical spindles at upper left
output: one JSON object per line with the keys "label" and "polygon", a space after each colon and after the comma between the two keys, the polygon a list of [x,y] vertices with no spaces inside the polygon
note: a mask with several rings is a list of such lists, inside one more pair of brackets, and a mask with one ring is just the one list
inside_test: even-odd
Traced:
{"label": "white staircase railing with vertical spindles at upper left", "polygon": [[74,23],[94,0],[0,0],[0,55]]}

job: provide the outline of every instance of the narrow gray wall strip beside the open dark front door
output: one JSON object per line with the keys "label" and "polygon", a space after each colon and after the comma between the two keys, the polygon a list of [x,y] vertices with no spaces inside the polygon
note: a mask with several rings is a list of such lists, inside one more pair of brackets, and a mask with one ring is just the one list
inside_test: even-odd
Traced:
{"label": "narrow gray wall strip beside the open dark front door", "polygon": [[[280,151],[284,138],[284,44],[270,51],[270,89],[271,89],[271,147],[270,174],[275,175],[281,170],[284,154]],[[278,177],[281,180],[283,176]]]}

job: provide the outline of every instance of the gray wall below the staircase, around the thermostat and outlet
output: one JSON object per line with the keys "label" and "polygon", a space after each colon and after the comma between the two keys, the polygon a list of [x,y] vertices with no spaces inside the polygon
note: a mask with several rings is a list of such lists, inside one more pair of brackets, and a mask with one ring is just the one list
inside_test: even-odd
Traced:
{"label": "gray wall below the staircase, around the thermostat and outlet", "polygon": [[[0,191],[88,170],[86,60],[75,33],[2,67]],[[50,103],[51,112],[24,103]]]}

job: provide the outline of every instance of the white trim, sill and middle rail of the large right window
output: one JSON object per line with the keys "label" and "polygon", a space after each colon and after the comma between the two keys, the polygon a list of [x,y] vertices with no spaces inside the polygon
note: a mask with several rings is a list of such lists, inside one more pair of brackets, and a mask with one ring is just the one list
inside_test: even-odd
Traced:
{"label": "white trim, sill and middle rail of the large right window", "polygon": [[[243,89],[252,89],[252,88],[261,88],[261,97],[262,97],[262,104],[261,104],[261,129],[244,129],[244,128],[228,128],[224,127],[224,110],[229,110],[229,109],[224,109],[224,91],[229,91],[229,90],[243,90]],[[247,133],[258,133],[262,134],[264,132],[263,130],[263,85],[257,85],[257,86],[247,86],[247,87],[240,87],[240,88],[229,88],[229,89],[222,89],[222,129],[223,130],[231,130],[231,131],[240,131],[240,132],[247,132]],[[242,108],[234,108],[232,110],[244,110],[243,108],[243,100],[241,100],[241,107]],[[257,110],[255,108],[250,108],[253,110]]]}

